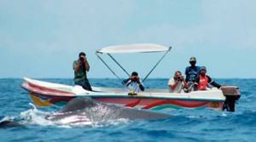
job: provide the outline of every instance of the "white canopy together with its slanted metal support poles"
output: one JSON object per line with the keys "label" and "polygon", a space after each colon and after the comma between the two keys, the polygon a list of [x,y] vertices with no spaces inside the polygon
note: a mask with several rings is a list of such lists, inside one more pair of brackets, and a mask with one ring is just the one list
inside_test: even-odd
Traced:
{"label": "white canopy together with its slanted metal support poles", "polygon": [[[111,54],[131,54],[131,53],[155,53],[155,52],[165,52],[165,54],[160,58],[160,60],[154,65],[151,71],[148,72],[148,75],[143,79],[144,82],[148,76],[154,71],[155,67],[159,65],[160,61],[164,59],[166,54],[172,49],[172,47],[165,47],[158,44],[152,43],[141,43],[141,44],[129,44],[129,45],[117,45],[117,46],[110,46],[107,48],[102,48],[96,50],[97,57],[102,60],[102,57],[99,54],[108,54],[108,56],[117,64],[119,67],[125,71],[124,67],[119,64],[117,60],[113,58]],[[117,77],[120,81],[121,79],[114,73],[114,71],[108,66],[108,64],[102,60],[102,63],[108,67],[108,69],[113,73],[115,77]],[[125,73],[130,77],[130,74],[125,71]]]}

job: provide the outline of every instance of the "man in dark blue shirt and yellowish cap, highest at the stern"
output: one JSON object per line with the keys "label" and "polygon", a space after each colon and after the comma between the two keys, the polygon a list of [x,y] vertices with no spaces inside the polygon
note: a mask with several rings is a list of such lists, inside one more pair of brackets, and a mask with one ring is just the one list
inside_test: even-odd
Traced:
{"label": "man in dark blue shirt and yellowish cap, highest at the stern", "polygon": [[185,75],[186,75],[185,81],[188,82],[189,89],[190,89],[193,87],[195,83],[195,78],[199,77],[201,67],[195,65],[196,64],[195,57],[190,58],[189,64],[190,66],[187,66],[185,70]]}

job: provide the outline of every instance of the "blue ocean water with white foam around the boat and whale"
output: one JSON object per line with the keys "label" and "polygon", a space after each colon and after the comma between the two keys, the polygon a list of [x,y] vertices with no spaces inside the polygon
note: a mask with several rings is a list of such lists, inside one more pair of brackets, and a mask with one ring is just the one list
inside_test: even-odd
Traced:
{"label": "blue ocean water with white foam around the boat and whale", "polygon": [[[73,79],[40,79],[73,85]],[[235,112],[212,110],[158,111],[165,120],[102,120],[79,125],[50,122],[45,116],[59,107],[35,107],[22,79],[0,79],[0,121],[22,128],[0,128],[0,141],[256,141],[256,79],[215,79],[238,86],[241,99]],[[148,79],[146,88],[167,88],[168,79]],[[93,86],[121,87],[116,79],[90,79]]]}

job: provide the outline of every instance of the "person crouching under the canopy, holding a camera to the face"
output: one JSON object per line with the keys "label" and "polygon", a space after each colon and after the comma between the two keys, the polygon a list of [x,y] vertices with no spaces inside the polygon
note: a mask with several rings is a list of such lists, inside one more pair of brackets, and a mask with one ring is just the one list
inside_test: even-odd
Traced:
{"label": "person crouching under the canopy, holding a camera to the face", "polygon": [[131,73],[131,77],[125,79],[123,81],[123,84],[125,85],[125,91],[127,91],[127,92],[137,93],[140,90],[144,91],[144,89],[145,89],[143,82],[138,77],[138,74],[136,71],[133,71]]}

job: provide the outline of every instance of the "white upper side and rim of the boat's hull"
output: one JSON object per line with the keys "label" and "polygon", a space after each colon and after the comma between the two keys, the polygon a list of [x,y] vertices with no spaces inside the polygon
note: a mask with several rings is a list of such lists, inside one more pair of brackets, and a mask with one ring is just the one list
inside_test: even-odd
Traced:
{"label": "white upper side and rim of the boat's hull", "polygon": [[[214,92],[218,93],[218,95],[221,93],[221,98],[202,98],[201,94],[199,96],[197,96],[198,93],[202,93],[202,92],[206,92],[206,91],[196,91],[196,93],[191,92],[189,94],[184,93],[184,94],[173,94],[173,93],[156,93],[156,92],[143,92],[143,93],[137,93],[137,95],[128,95],[127,92],[108,92],[108,91],[103,91],[100,90],[99,92],[91,92],[91,91],[86,91],[84,90],[83,94],[74,94],[73,92],[67,92],[66,90],[61,90],[61,88],[50,88],[50,89],[55,89],[58,91],[66,91],[66,94],[56,94],[56,93],[51,93],[49,92],[44,92],[44,90],[41,89],[32,89],[32,86],[29,86],[29,83],[36,83],[36,85],[38,87],[43,87],[43,88],[47,88],[47,86],[41,86],[40,84],[37,83],[37,80],[33,80],[33,79],[26,79],[25,80],[27,83],[23,83],[22,84],[22,88],[26,89],[28,92],[32,92],[34,94],[41,94],[41,95],[45,95],[45,96],[49,96],[49,97],[92,97],[92,98],[134,98],[134,99],[181,99],[181,100],[201,100],[201,101],[224,101],[226,99],[226,97],[224,96],[224,94],[222,94],[221,90],[211,90],[212,94],[214,94]],[[30,82],[31,81],[31,82]],[[41,82],[41,81],[39,81]],[[46,84],[49,84],[48,82],[46,82]],[[57,86],[59,86],[59,84],[57,83],[50,83],[50,84],[56,84]],[[45,85],[45,84],[44,84]],[[62,86],[60,84],[60,86]],[[63,87],[67,87],[67,88],[75,88],[73,86],[68,86],[68,85],[64,85]],[[99,89],[104,89],[104,88],[99,88]],[[117,88],[119,90],[119,88]],[[156,88],[157,90],[158,88]],[[114,88],[112,88],[112,90],[114,90]],[[154,89],[151,89],[154,90]],[[166,90],[166,89],[160,89],[160,90]],[[164,95],[162,95],[164,94]],[[207,96],[207,94],[205,95]],[[207,96],[208,97],[208,96]]]}

